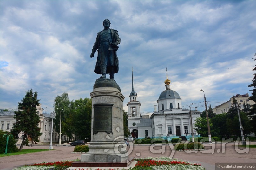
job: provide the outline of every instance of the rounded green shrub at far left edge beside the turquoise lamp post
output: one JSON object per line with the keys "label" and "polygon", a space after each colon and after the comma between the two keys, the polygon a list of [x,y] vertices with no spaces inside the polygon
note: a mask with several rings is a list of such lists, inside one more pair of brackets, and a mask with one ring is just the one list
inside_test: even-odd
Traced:
{"label": "rounded green shrub at far left edge beside the turquoise lamp post", "polygon": [[[7,131],[3,131],[3,130],[0,130],[0,154],[4,154],[5,153],[5,148],[6,148],[6,135],[9,136],[11,133],[10,132],[7,132]],[[3,137],[3,135],[5,135]],[[13,153],[13,152],[18,152],[19,149],[17,148],[16,146],[16,142],[17,142],[17,139],[13,138],[13,137],[9,137],[9,140],[8,140],[8,145],[7,145],[7,153]]]}

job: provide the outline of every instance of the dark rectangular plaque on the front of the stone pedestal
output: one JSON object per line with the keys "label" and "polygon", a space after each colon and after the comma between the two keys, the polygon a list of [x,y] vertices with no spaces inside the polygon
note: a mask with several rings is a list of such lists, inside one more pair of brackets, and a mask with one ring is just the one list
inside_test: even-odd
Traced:
{"label": "dark rectangular plaque on the front of the stone pedestal", "polygon": [[113,104],[93,105],[93,134],[98,132],[112,133],[112,106]]}

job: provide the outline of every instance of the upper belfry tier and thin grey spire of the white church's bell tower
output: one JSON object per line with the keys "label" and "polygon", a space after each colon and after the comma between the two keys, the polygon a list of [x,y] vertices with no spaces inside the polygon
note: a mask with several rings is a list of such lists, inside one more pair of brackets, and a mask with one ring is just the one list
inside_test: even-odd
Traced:
{"label": "upper belfry tier and thin grey spire of the white church's bell tower", "polygon": [[127,103],[128,106],[128,117],[139,117],[140,118],[140,106],[141,103],[137,101],[137,93],[134,91],[133,83],[133,69],[132,69],[132,91],[129,95],[130,101]]}

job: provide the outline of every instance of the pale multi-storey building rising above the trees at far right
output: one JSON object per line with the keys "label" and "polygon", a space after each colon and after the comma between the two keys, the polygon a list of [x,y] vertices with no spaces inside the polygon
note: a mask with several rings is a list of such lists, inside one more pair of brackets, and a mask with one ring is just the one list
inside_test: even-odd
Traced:
{"label": "pale multi-storey building rising above the trees at far right", "polygon": [[[252,100],[249,100],[249,94],[237,94],[234,96],[235,100],[237,101],[237,103],[240,105],[241,110],[243,109],[243,105],[244,103],[247,104],[249,106],[252,106],[253,104],[255,104],[255,102],[253,102]],[[213,108],[213,113],[215,114],[221,114],[221,113],[226,113],[228,112],[228,110],[232,107],[232,102],[233,102],[233,97],[230,97],[230,100],[228,100],[225,103],[222,103],[219,106],[216,106],[215,108]]]}

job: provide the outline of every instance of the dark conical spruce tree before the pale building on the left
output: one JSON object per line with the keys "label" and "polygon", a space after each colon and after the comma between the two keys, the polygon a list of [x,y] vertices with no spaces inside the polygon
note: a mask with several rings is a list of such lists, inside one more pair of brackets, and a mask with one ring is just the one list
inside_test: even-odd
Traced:
{"label": "dark conical spruce tree before the pale building on the left", "polygon": [[25,97],[18,103],[19,111],[14,111],[16,123],[11,133],[14,134],[15,137],[18,137],[19,133],[23,133],[19,150],[22,150],[23,145],[28,145],[28,138],[30,138],[32,142],[38,142],[38,137],[42,135],[40,132],[41,128],[38,127],[40,119],[36,111],[36,106],[40,104],[39,101],[40,100],[37,99],[37,92],[33,92],[31,89],[26,92]]}

